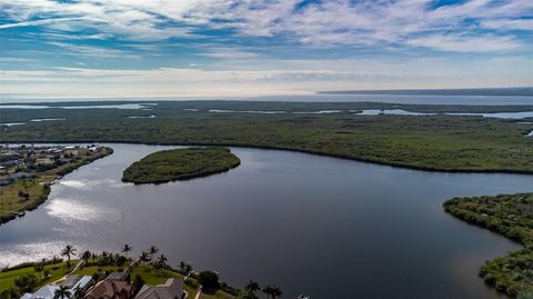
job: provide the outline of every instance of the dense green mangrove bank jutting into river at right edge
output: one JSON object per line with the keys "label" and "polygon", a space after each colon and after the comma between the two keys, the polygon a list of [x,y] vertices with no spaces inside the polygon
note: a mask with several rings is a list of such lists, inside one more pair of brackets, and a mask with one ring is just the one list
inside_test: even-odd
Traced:
{"label": "dense green mangrove bank jutting into river at right edge", "polygon": [[487,261],[480,270],[499,291],[522,298],[533,293],[533,193],[454,198],[446,212],[524,245],[524,249]]}

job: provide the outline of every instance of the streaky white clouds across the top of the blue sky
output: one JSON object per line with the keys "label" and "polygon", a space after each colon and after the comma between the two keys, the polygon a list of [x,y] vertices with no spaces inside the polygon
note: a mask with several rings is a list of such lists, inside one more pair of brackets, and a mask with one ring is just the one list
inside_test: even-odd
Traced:
{"label": "streaky white clouds across the top of the blue sky", "polygon": [[[280,37],[318,47],[415,44],[460,52],[463,49],[457,43],[467,41],[465,37],[472,38],[470,44],[484,44],[471,51],[524,46],[511,33],[479,34],[480,28],[532,30],[531,20],[520,19],[533,13],[531,0],[472,0],[430,9],[433,2],[329,0],[296,9],[298,0],[0,0],[0,10],[13,21],[0,29],[39,24],[76,33],[89,28],[119,39],[154,41],[193,37],[198,26],[207,26],[232,29],[239,36]],[[465,23],[471,19],[476,23]],[[220,58],[225,57],[221,53]]]}

